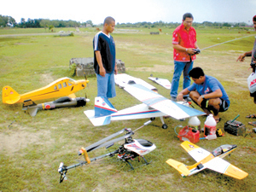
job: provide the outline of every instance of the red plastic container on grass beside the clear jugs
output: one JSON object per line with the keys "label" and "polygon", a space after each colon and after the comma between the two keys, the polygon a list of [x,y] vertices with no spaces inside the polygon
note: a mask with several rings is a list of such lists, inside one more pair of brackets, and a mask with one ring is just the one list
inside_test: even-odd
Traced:
{"label": "red plastic container on grass beside the clear jugs", "polygon": [[189,141],[191,143],[198,143],[200,140],[200,132],[195,129],[185,126],[181,131],[179,131],[177,137],[180,141]]}

